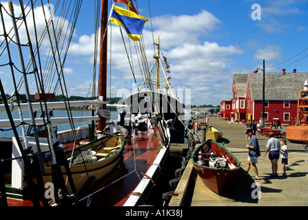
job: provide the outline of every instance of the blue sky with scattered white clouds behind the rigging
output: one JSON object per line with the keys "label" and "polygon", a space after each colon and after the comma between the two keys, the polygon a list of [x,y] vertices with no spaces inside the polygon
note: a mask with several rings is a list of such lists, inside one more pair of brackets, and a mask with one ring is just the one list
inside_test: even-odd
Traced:
{"label": "blue sky with scattered white clouds behind the rigging", "polygon": [[[1,3],[6,7],[6,1]],[[232,98],[234,74],[263,68],[263,59],[267,73],[280,73],[283,68],[286,72],[293,72],[294,68],[308,72],[308,0],[143,0],[138,1],[138,11],[150,20],[143,30],[149,66],[154,63],[153,38],[157,43],[159,36],[161,51],[170,65],[172,89],[184,94],[185,104],[216,106],[221,100]],[[10,19],[4,20],[10,25]],[[38,25],[43,25],[43,19]],[[69,26],[70,21],[65,25]],[[132,89],[134,78],[119,28],[112,25],[110,33],[112,58],[111,62],[108,60],[111,71],[108,66],[107,96],[123,96],[121,89]],[[125,41],[133,44],[126,37]],[[65,62],[68,94],[88,96],[93,48],[94,1],[83,1]],[[1,55],[0,63],[6,63],[5,56],[6,53]],[[141,84],[138,70],[135,75]],[[10,69],[0,67],[0,77],[10,94]],[[35,85],[30,83],[30,90],[33,89]]]}

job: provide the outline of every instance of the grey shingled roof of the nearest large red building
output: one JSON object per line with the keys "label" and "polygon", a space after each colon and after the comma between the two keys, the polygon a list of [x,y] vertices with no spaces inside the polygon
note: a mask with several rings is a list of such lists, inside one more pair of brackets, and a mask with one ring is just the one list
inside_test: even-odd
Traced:
{"label": "grey shingled roof of the nearest large red building", "polygon": [[[263,74],[248,74],[251,98],[263,98]],[[297,100],[308,73],[265,73],[265,100]]]}

